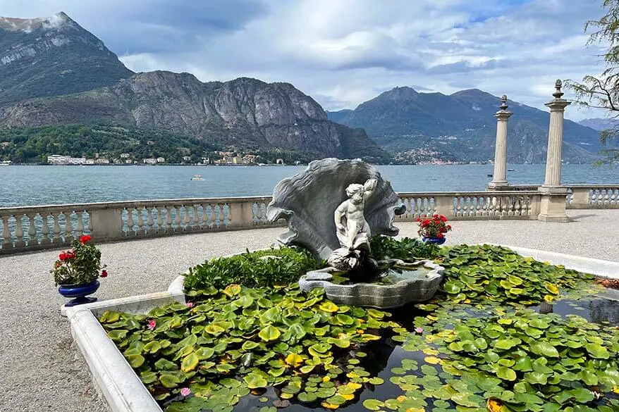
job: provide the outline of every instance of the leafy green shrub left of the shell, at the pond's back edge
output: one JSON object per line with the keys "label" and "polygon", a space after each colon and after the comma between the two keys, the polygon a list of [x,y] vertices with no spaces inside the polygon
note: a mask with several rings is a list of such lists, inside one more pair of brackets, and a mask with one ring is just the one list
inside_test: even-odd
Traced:
{"label": "leafy green shrub left of the shell, at the pond's back edge", "polygon": [[[275,256],[264,258],[264,256]],[[272,287],[296,282],[308,270],[324,266],[306,249],[282,247],[214,258],[189,269],[185,292],[232,284],[246,287]]]}

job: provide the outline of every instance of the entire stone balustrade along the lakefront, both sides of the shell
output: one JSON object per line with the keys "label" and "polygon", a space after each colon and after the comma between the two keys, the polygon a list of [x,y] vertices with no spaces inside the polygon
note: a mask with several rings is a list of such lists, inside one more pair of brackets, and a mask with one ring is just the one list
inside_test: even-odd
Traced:
{"label": "entire stone balustrade along the lakefront, both sides of the shell", "polygon": [[[568,186],[568,208],[619,208],[619,185]],[[499,192],[399,193],[406,206],[396,221],[433,213],[449,220],[537,219],[537,186]],[[266,221],[271,196],[117,201],[0,208],[0,254],[62,249],[90,234],[97,242],[243,230],[283,225]]]}

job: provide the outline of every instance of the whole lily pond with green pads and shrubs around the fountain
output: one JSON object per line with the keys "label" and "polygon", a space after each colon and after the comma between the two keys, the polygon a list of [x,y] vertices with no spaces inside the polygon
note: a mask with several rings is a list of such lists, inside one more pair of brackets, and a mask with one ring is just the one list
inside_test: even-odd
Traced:
{"label": "whole lily pond with green pads and shrubs around the fountain", "polygon": [[498,246],[372,253],[436,261],[441,291],[337,305],[295,284],[324,262],[283,248],[192,268],[188,304],[99,321],[166,412],[619,411],[619,301],[593,277]]}

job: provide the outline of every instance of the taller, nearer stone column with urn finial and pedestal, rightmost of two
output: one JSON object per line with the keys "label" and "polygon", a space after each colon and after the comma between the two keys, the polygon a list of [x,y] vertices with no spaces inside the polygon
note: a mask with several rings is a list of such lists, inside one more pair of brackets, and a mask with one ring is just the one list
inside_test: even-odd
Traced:
{"label": "taller, nearer stone column with urn finial and pedestal, rightmost of two", "polygon": [[570,101],[561,99],[561,81],[557,80],[554,100],[546,103],[550,108],[550,125],[548,126],[548,153],[546,154],[546,178],[541,192],[541,207],[538,219],[544,222],[569,222],[565,214],[565,197],[568,188],[561,186],[561,144],[563,144],[563,113]]}

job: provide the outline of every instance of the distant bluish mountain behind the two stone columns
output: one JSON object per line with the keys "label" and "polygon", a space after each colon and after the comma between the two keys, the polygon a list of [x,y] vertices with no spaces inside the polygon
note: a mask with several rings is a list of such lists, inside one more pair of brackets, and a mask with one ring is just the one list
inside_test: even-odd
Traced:
{"label": "distant bluish mountain behind the two stone columns", "polygon": [[[487,161],[494,158],[496,119],[501,99],[479,89],[451,95],[419,93],[396,87],[366,101],[354,111],[328,112],[350,127],[363,127],[370,138],[398,158]],[[509,101],[508,161],[544,163],[548,112]],[[569,110],[569,108],[568,108]],[[600,149],[598,132],[565,120],[563,159],[588,163]]]}

